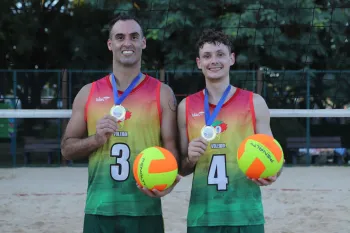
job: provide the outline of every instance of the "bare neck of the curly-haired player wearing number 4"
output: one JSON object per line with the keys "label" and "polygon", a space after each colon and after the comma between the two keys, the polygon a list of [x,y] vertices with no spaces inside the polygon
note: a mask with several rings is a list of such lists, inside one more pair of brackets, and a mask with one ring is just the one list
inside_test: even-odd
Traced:
{"label": "bare neck of the curly-haired player wearing number 4", "polygon": [[[224,94],[226,88],[230,85],[230,79],[229,78],[223,78],[223,79],[206,79],[205,80],[205,86],[209,93],[209,102],[211,104],[217,104],[222,95]],[[230,93],[227,95],[226,100],[231,98],[232,94],[235,92],[235,88],[231,88]],[[226,102],[225,100],[225,102]]]}

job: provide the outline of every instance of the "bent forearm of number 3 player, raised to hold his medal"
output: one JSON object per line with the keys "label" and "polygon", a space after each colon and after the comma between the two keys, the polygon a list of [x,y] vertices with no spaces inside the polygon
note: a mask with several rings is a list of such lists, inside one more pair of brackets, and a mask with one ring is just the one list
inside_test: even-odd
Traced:
{"label": "bent forearm of number 3 player, raised to hold his medal", "polygon": [[88,157],[100,146],[94,135],[84,139],[67,138],[61,144],[61,152],[67,160],[79,160]]}

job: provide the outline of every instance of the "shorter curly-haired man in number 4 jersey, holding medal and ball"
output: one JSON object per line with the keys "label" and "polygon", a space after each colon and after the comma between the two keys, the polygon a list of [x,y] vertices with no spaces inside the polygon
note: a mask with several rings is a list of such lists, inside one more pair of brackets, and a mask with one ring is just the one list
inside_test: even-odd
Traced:
{"label": "shorter curly-haired man in number 4 jersey, holding medal and ball", "polygon": [[192,172],[187,233],[263,233],[260,187],[274,182],[250,180],[236,161],[239,144],[249,135],[272,135],[264,99],[230,85],[235,63],[229,38],[207,30],[198,41],[198,68],[206,88],[178,107],[182,175]]}

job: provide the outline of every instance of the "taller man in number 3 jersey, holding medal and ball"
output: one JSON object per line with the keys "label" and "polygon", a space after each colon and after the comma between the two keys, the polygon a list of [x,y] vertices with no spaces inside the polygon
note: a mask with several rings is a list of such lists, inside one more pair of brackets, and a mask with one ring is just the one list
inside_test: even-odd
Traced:
{"label": "taller man in number 3 jersey, holding medal and ball", "polygon": [[62,139],[66,159],[89,158],[83,232],[162,233],[159,197],[179,177],[163,192],[140,191],[132,166],[151,146],[178,159],[176,99],[169,86],[141,73],[146,40],[136,19],[115,18],[107,46],[113,72],[79,91]]}

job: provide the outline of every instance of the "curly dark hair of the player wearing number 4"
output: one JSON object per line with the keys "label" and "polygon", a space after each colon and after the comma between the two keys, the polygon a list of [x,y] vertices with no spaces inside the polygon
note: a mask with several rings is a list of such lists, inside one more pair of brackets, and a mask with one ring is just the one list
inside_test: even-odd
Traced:
{"label": "curly dark hair of the player wearing number 4", "polygon": [[229,36],[221,30],[205,29],[197,41],[197,51],[203,48],[204,44],[206,43],[226,45],[230,53],[233,50]]}

